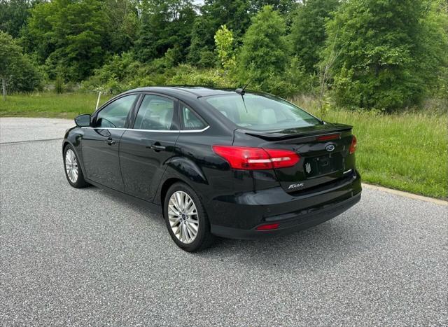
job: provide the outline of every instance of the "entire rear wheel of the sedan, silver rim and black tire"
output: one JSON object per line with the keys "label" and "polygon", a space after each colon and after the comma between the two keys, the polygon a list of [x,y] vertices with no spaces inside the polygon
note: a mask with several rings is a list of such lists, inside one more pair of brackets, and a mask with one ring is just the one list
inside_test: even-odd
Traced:
{"label": "entire rear wheel of the sedan, silver rim and black tire", "polygon": [[169,235],[181,249],[199,251],[213,242],[207,214],[190,186],[175,183],[169,188],[165,196],[164,214]]}

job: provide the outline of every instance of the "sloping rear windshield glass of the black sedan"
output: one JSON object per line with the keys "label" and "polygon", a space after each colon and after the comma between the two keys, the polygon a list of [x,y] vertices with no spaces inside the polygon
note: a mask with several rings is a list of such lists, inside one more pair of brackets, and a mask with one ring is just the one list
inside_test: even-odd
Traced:
{"label": "sloping rear windshield glass of the black sedan", "polygon": [[225,117],[251,130],[286,130],[320,124],[306,111],[269,95],[214,95],[203,97]]}

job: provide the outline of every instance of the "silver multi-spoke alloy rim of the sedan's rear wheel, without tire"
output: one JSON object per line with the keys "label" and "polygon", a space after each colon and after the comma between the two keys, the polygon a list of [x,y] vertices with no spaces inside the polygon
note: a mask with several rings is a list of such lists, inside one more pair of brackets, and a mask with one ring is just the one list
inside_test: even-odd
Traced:
{"label": "silver multi-spoke alloy rim of the sedan's rear wheel, without tire", "polygon": [[199,230],[195,202],[187,193],[178,190],[169,197],[168,219],[174,235],[185,244],[193,242]]}

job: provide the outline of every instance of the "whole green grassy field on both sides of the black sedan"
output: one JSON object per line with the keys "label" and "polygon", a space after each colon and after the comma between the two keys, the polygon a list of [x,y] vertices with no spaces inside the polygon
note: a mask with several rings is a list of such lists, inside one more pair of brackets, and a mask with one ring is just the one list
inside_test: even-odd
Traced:
{"label": "whole green grassy field on both sides of the black sedan", "polygon": [[[100,103],[110,96],[102,96]],[[0,116],[74,118],[91,113],[97,94],[12,95],[0,100]],[[297,104],[321,116],[314,103]],[[447,198],[448,117],[435,113],[383,115],[332,110],[323,119],[353,125],[357,165],[363,181],[398,190]]]}

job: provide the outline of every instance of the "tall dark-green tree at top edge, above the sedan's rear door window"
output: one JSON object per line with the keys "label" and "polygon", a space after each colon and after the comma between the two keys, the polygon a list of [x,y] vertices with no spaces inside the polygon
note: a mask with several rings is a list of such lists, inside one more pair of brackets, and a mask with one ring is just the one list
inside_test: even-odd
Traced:
{"label": "tall dark-green tree at top edge, above the sedan's rear door window", "polygon": [[196,16],[191,1],[146,0],[142,1],[141,12],[141,29],[134,47],[136,57],[148,62],[177,46],[183,60]]}

